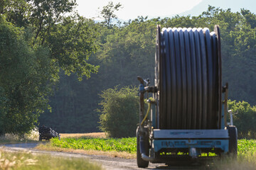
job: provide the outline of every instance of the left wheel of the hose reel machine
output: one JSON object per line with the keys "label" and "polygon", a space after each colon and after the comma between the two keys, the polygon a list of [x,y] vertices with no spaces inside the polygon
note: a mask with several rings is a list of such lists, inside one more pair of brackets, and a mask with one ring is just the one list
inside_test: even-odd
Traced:
{"label": "left wheel of the hose reel machine", "polygon": [[[137,128],[137,131],[136,131],[136,135],[137,135],[137,165],[139,168],[146,168],[147,166],[149,166],[149,162],[147,161],[144,161],[142,159],[142,154],[140,152],[140,149],[139,149],[139,134],[138,134],[138,131],[139,131],[139,127]],[[145,140],[145,147],[146,147],[146,156],[149,156],[149,138],[146,137],[146,140]]]}

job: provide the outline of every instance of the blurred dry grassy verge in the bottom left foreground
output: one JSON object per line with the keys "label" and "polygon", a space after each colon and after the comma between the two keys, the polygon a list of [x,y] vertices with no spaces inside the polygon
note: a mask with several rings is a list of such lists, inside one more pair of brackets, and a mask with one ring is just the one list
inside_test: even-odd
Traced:
{"label": "blurred dry grassy verge in the bottom left foreground", "polygon": [[0,169],[92,169],[101,166],[89,163],[85,159],[68,159],[50,155],[33,155],[29,153],[10,153],[0,150]]}

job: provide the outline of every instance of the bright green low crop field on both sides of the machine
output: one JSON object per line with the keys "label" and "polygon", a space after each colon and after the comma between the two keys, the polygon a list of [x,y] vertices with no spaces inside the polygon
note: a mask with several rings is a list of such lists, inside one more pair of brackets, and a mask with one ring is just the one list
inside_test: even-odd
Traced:
{"label": "bright green low crop field on both sides of the machine", "polygon": [[[117,151],[136,153],[136,137],[129,138],[88,138],[88,137],[68,137],[62,140],[52,139],[50,145],[69,149],[85,149],[98,151]],[[256,158],[256,140],[238,140],[238,158]]]}

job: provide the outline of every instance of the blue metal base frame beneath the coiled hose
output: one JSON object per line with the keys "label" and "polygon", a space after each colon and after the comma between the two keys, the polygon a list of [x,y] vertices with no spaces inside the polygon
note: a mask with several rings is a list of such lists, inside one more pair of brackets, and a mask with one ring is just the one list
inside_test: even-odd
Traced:
{"label": "blue metal base frame beneath the coiled hose", "polygon": [[[152,148],[154,152],[161,149],[189,149],[189,154],[198,157],[198,149],[221,149],[228,153],[228,130],[153,130]],[[193,152],[193,150],[195,152]]]}

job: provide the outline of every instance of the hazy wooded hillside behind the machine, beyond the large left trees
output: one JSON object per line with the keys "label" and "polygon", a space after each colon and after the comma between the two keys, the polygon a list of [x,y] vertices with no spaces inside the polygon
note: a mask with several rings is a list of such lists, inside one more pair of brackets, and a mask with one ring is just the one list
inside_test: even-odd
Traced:
{"label": "hazy wooded hillside behind the machine, beyond the large left trees", "polygon": [[[209,6],[200,16],[147,19],[139,17],[120,25],[98,26],[99,50],[89,62],[100,65],[99,72],[81,82],[74,75],[60,76],[58,91],[51,98],[53,113],[41,115],[40,122],[55,125],[61,132],[97,131],[101,91],[114,86],[138,85],[137,76],[154,84],[156,25],[161,27],[220,26],[223,54],[223,84],[229,83],[229,98],[256,104],[256,16],[245,9],[232,13]],[[48,117],[53,117],[48,121]],[[129,115],[127,115],[129,116]],[[57,120],[57,121],[56,121]]]}

